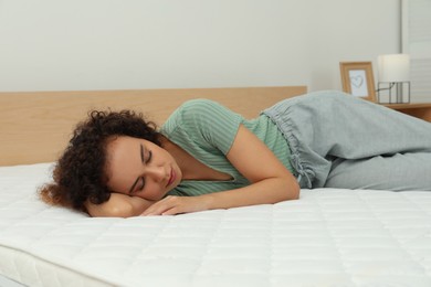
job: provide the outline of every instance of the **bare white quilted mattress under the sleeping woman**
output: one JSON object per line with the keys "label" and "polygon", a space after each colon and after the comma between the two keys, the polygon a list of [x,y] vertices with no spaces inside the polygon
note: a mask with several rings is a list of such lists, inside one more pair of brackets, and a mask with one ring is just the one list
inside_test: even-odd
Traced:
{"label": "bare white quilted mattress under the sleeping woman", "polygon": [[36,199],[49,168],[0,168],[0,274],[24,285],[431,286],[431,192],[92,219]]}

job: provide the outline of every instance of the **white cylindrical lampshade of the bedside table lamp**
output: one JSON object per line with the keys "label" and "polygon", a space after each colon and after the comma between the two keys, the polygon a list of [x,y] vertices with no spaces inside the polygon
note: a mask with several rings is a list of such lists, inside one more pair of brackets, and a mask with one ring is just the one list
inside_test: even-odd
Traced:
{"label": "white cylindrical lampshade of the bedside table lamp", "polygon": [[378,57],[379,82],[408,82],[410,56],[408,54],[380,55]]}

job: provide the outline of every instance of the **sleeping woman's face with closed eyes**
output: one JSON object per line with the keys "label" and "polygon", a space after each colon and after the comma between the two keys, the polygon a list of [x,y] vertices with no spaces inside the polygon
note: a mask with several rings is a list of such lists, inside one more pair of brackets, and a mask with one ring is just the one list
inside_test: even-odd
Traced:
{"label": "sleeping woman's face with closed eyes", "polygon": [[150,201],[162,199],[182,178],[172,156],[151,141],[120,136],[106,147],[107,187]]}

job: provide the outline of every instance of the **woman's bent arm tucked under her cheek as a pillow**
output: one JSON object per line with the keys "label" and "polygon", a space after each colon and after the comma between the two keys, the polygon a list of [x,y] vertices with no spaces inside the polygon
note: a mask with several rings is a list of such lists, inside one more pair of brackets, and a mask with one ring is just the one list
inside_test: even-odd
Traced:
{"label": "woman's bent arm tucked under her cheek as a pillow", "polygon": [[93,217],[130,217],[140,215],[154,201],[120,193],[112,193],[108,201],[94,204],[86,202],[85,208]]}

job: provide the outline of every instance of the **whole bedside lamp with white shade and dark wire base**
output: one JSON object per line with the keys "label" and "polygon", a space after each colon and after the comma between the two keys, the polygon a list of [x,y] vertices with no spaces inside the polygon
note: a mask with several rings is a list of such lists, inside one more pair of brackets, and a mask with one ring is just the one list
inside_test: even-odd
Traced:
{"label": "whole bedside lamp with white shade and dark wire base", "polygon": [[[396,103],[403,103],[404,84],[408,87],[408,102],[410,102],[410,56],[408,54],[380,55],[378,57],[379,84],[378,96],[380,92],[389,91],[389,102],[391,103],[392,87],[396,88]],[[386,88],[380,88],[386,86]]]}

